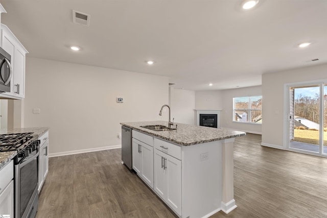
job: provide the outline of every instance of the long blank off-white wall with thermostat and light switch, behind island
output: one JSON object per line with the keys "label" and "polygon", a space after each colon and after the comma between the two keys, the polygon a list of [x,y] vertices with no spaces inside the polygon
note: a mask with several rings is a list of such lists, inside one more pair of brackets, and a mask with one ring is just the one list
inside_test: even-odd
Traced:
{"label": "long blank off-white wall with thermostat and light switch, behind island", "polygon": [[50,154],[114,147],[121,144],[121,122],[168,120],[168,113],[158,115],[169,101],[168,83],[167,77],[28,57],[25,127],[50,127]]}

